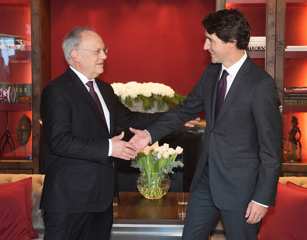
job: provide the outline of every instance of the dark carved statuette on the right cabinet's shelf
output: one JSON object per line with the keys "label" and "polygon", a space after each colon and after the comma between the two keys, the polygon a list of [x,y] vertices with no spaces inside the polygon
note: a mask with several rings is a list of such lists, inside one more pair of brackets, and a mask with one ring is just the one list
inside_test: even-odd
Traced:
{"label": "dark carved statuette on the right cabinet's shelf", "polygon": [[[302,160],[302,144],[300,142],[301,139],[301,130],[298,127],[298,119],[295,116],[292,116],[292,129],[288,132],[290,135],[289,137],[289,150],[287,151],[286,160],[290,162],[299,162]],[[300,136],[297,138],[295,137],[296,133],[299,133]],[[298,143],[298,146],[297,146]],[[299,158],[296,157],[296,150],[299,148]]]}

